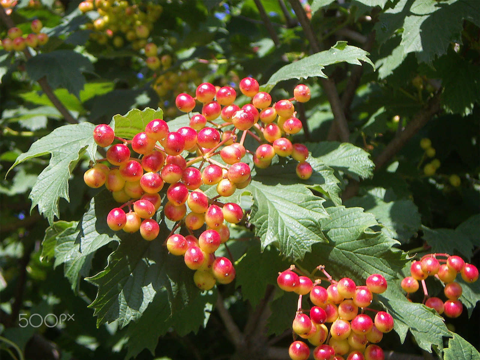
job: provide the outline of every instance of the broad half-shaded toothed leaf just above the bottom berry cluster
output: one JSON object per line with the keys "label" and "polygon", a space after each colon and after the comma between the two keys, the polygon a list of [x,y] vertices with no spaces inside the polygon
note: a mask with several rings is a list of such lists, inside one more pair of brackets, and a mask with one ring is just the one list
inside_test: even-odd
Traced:
{"label": "broad half-shaded toothed leaf just above the bottom berry cluster", "polygon": [[302,267],[311,271],[324,264],[337,280],[349,276],[362,282],[371,274],[382,274],[386,279],[398,277],[407,262],[406,254],[395,248],[396,240],[372,230],[379,226],[372,214],[359,207],[332,206],[325,210],[330,217],[321,218],[319,225],[328,243],[313,245]]}

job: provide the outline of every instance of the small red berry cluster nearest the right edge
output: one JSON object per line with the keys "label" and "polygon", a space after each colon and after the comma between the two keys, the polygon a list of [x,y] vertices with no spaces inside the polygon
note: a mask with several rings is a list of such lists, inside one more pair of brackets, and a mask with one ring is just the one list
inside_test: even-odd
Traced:
{"label": "small red berry cluster nearest the right edge", "polygon": [[[446,259],[437,259],[437,256],[446,257]],[[442,263],[442,264],[441,264]],[[435,309],[439,314],[445,314],[450,318],[456,318],[463,311],[463,304],[458,300],[462,295],[462,287],[455,281],[457,274],[460,273],[463,280],[468,283],[477,281],[479,270],[475,265],[465,263],[460,256],[450,256],[445,253],[434,253],[423,256],[420,260],[413,261],[410,266],[410,276],[405,277],[401,282],[401,287],[407,292],[407,298],[410,294],[420,288],[419,280],[422,284],[424,298],[423,303]],[[429,297],[425,279],[428,276],[435,276],[444,284],[444,295],[446,301],[438,297]],[[411,301],[411,300],[410,300]]]}

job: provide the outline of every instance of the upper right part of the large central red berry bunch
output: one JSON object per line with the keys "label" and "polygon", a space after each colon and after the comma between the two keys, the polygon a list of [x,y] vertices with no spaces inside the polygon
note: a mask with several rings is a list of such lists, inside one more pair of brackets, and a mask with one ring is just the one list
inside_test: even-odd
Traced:
{"label": "upper right part of the large central red berry bunch", "polygon": [[[195,97],[182,93],[175,100],[180,111],[190,113],[196,106],[196,101],[202,103],[200,114],[192,115],[190,126],[197,130],[204,128],[210,122],[217,129],[231,127],[232,130],[224,131],[225,136],[235,136],[238,130],[243,131],[240,145],[229,141],[220,151],[220,156],[227,164],[235,164],[245,155],[243,141],[249,134],[260,145],[252,153],[253,163],[258,168],[267,168],[272,163],[274,156],[288,157],[299,161],[296,168],[300,179],[308,179],[312,175],[312,166],[306,161],[309,153],[303,144],[292,144],[288,139],[291,134],[296,134],[302,129],[300,119],[296,118],[295,107],[292,101],[306,102],[310,100],[310,89],[304,84],[299,84],[293,90],[294,97],[282,99],[272,105],[270,94],[259,91],[258,82],[252,77],[243,78],[239,84],[243,95],[251,97],[251,102],[241,108],[234,104],[237,97],[235,89],[231,86],[215,87],[210,83],[200,84],[195,92]],[[223,106],[223,108],[222,108]],[[224,123],[218,125],[214,120],[221,118]],[[252,130],[255,132],[252,132]],[[200,135],[200,133],[199,133]],[[258,136],[260,135],[260,136]],[[209,146],[207,146],[209,147]],[[208,149],[201,149],[202,152]]]}

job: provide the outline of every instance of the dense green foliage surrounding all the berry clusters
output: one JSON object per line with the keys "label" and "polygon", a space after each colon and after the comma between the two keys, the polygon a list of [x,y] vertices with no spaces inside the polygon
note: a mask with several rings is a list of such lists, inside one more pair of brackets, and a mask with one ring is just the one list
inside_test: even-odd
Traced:
{"label": "dense green foliage surrounding all the berry clusters", "polygon": [[[1,9],[1,39],[36,18],[48,34],[38,51],[0,48],[2,358],[285,359],[298,297],[276,276],[323,264],[336,280],[387,279],[372,303],[395,319],[385,351],[480,359],[479,281],[459,280],[457,319],[400,288],[428,253],[479,266],[480,2],[111,1],[144,14],[135,20],[151,25],[155,70],[147,40],[105,31],[130,19],[110,13],[102,27],[98,9],[79,4]],[[291,138],[307,145],[313,174],[300,180],[288,160],[255,168],[249,155],[252,182],[227,199],[249,210],[230,228],[236,279],[201,292],[162,246],[174,223],[158,215],[154,241],[110,230],[118,205],[83,173],[105,155],[96,124],[125,139],[156,118],[175,131],[189,124],[178,93],[202,82],[238,89],[246,76],[274,101],[308,84],[312,99],[296,105],[303,130]],[[435,279],[427,286],[443,292]],[[74,321],[21,327],[31,314]]]}

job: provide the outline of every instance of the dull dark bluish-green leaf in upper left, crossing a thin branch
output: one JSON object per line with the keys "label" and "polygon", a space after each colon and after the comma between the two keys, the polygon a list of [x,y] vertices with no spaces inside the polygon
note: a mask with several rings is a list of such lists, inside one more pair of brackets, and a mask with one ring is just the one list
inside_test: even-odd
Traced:
{"label": "dull dark bluish-green leaf in upper left, crossing a thin branch", "polygon": [[82,54],[73,50],[55,50],[30,58],[26,63],[26,71],[32,80],[46,76],[53,89],[64,87],[80,98],[80,90],[86,82],[82,72],[93,72],[94,68]]}

